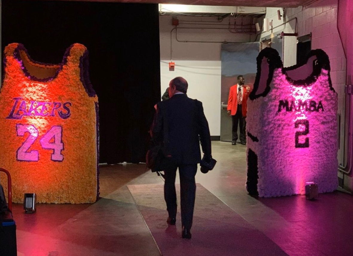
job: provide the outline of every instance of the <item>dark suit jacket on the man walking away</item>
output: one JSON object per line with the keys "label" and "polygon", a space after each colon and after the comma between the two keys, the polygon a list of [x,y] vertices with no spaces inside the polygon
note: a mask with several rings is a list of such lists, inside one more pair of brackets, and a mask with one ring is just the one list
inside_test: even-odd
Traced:
{"label": "dark suit jacket on the man walking away", "polygon": [[162,143],[166,156],[177,164],[197,164],[201,160],[200,141],[205,155],[211,155],[211,138],[202,102],[175,94],[157,104],[152,124],[152,140]]}

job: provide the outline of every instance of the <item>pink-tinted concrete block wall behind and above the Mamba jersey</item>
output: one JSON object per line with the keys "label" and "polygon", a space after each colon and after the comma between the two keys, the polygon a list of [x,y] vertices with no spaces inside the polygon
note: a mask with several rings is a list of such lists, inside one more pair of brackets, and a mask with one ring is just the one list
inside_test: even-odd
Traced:
{"label": "pink-tinted concrete block wall behind and above the Mamba jersey", "polygon": [[[340,122],[339,163],[343,164],[343,145],[345,142],[345,84],[346,57],[337,30],[337,0],[322,0],[303,8],[288,8],[288,19],[298,16],[298,36],[312,33],[311,48],[324,50],[330,58],[331,80],[338,94],[338,114]],[[285,45],[286,47],[286,45]]]}

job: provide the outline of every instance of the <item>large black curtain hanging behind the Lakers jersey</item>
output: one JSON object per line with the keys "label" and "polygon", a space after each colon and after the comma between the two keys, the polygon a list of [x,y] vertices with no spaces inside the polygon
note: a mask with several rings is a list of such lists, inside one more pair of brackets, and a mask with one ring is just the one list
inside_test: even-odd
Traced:
{"label": "large black curtain hanging behind the Lakers jersey", "polygon": [[89,51],[98,95],[100,163],[145,162],[160,100],[157,4],[2,0],[2,58],[22,43],[32,59],[61,63],[68,46]]}

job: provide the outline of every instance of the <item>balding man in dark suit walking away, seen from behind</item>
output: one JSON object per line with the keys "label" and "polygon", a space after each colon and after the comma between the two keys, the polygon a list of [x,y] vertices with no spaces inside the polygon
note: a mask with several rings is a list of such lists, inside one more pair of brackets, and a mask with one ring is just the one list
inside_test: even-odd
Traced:
{"label": "balding man in dark suit walking away, seen from behind", "polygon": [[200,142],[206,158],[211,156],[211,138],[202,102],[186,95],[187,81],[175,77],[169,83],[169,99],[157,104],[152,125],[152,140],[162,142],[166,158],[164,167],[164,199],[169,225],[175,225],[177,195],[175,175],[179,168],[182,237],[191,238],[190,229],[195,205],[195,175],[201,161]]}

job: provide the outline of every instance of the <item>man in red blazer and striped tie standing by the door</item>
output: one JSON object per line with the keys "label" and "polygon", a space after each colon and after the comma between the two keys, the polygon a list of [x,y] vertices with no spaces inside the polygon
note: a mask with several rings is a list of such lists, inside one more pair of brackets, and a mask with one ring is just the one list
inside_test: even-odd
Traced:
{"label": "man in red blazer and striped tie standing by the door", "polygon": [[233,85],[229,90],[227,113],[229,116],[232,116],[232,145],[237,144],[238,123],[240,143],[245,145],[246,101],[250,94],[250,87],[244,85],[244,76],[239,75],[237,78],[238,84]]}

